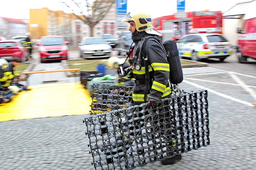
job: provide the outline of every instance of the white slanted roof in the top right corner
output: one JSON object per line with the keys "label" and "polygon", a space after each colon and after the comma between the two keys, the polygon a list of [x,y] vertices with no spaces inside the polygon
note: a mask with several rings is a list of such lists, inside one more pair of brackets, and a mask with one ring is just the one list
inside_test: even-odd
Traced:
{"label": "white slanted roof in the top right corner", "polygon": [[244,20],[256,17],[256,1],[238,3],[232,6],[228,11],[223,13],[223,18],[242,18]]}

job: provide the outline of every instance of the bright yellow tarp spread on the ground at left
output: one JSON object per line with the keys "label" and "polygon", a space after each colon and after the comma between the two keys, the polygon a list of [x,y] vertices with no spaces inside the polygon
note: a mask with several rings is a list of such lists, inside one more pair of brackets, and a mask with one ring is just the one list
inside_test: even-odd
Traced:
{"label": "bright yellow tarp spread on the ground at left", "polygon": [[88,114],[92,98],[79,83],[30,86],[0,105],[0,121]]}

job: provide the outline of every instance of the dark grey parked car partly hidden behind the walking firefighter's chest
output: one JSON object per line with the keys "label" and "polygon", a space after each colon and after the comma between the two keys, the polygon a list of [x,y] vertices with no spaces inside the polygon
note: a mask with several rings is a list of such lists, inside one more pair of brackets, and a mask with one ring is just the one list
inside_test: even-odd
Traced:
{"label": "dark grey parked car partly hidden behind the walking firefighter's chest", "polygon": [[130,31],[121,32],[116,40],[116,51],[118,55],[126,56],[126,51],[132,44],[132,33]]}

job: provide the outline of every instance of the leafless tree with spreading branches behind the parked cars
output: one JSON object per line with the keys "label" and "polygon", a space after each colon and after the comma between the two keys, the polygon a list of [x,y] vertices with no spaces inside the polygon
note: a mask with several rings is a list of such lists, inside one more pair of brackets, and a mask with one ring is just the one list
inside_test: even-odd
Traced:
{"label": "leafless tree with spreading branches behind the parked cars", "polygon": [[[92,4],[90,0],[60,0],[71,11],[76,18],[82,20],[90,27],[90,36],[93,37],[93,28],[100,22],[111,9],[115,0],[95,0]],[[79,14],[79,15],[76,15]]]}

